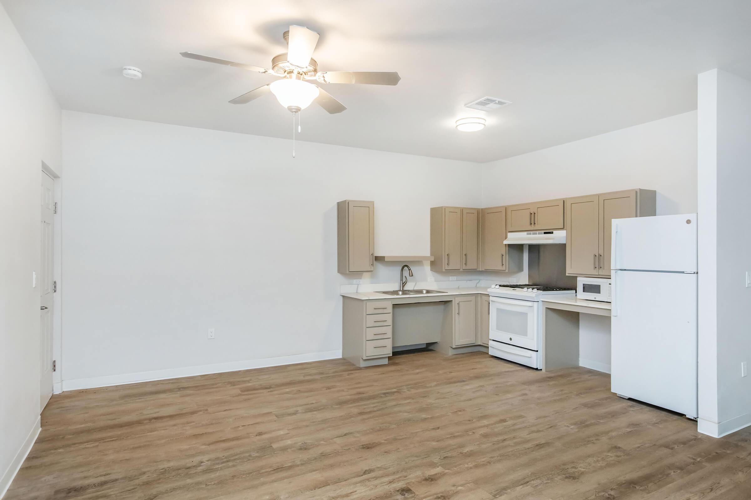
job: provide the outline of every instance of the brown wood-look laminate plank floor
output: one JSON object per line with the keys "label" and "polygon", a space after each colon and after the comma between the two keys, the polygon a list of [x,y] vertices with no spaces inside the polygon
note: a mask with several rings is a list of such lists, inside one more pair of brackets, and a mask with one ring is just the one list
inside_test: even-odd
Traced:
{"label": "brown wood-look laminate plank floor", "polygon": [[319,361],[56,395],[6,499],[749,500],[751,430],[585,368]]}

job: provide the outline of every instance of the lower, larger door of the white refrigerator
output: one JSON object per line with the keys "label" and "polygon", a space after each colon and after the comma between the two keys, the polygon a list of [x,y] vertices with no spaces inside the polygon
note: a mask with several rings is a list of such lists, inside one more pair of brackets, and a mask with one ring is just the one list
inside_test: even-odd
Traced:
{"label": "lower, larger door of the white refrigerator", "polygon": [[696,274],[617,271],[611,391],[697,416]]}

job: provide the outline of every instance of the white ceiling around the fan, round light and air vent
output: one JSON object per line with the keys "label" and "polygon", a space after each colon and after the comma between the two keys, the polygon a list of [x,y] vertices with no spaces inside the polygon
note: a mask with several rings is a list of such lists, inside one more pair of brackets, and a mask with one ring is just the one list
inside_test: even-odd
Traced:
{"label": "white ceiling around the fan, round light and air vent", "polygon": [[[270,67],[290,24],[320,32],[320,70],[396,70],[396,87],[326,86],[348,106],[303,112],[298,139],[486,162],[696,108],[696,74],[751,77],[748,0],[2,0],[63,109],[291,136]],[[124,65],[143,79],[121,76]],[[4,72],[12,68],[4,68]],[[479,97],[511,100],[495,112]],[[454,120],[484,115],[485,130]],[[638,145],[635,145],[638,147]]]}

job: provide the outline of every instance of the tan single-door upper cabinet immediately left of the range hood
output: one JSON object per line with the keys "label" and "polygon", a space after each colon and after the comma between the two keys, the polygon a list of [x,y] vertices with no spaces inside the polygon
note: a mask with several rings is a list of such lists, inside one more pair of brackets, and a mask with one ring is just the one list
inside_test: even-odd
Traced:
{"label": "tan single-door upper cabinet immediately left of the range hood", "polygon": [[506,231],[506,208],[482,209],[481,266],[484,271],[522,271],[524,247],[504,244]]}

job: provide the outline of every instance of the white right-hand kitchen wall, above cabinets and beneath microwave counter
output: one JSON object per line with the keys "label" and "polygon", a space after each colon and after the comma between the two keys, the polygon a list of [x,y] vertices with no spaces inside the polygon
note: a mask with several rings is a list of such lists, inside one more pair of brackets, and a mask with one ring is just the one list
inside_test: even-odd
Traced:
{"label": "white right-hand kitchen wall, above cabinets and beneath microwave counter", "polygon": [[[482,206],[641,187],[657,214],[696,211],[696,112],[605,133],[484,165]],[[581,363],[609,371],[610,328],[582,315]]]}

